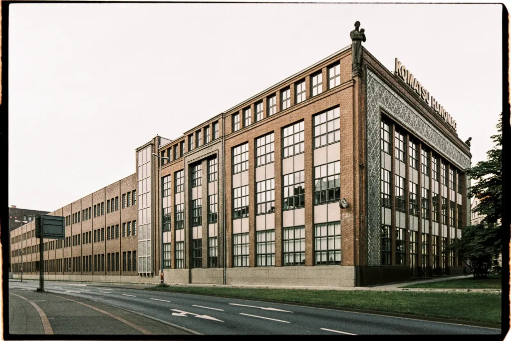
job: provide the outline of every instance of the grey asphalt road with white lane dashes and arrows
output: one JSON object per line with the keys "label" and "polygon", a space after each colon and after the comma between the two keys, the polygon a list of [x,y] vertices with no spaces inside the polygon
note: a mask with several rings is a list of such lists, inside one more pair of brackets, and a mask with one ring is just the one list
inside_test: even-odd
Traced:
{"label": "grey asphalt road with white lane dashes and arrows", "polygon": [[[9,281],[35,290],[38,281]],[[151,316],[200,334],[500,334],[500,329],[188,293],[47,281],[44,289]]]}

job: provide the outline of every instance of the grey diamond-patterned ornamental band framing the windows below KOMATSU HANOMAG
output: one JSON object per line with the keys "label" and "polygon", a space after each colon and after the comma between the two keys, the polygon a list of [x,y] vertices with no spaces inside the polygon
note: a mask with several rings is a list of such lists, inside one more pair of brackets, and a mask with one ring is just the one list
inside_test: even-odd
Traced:
{"label": "grey diamond-patterned ornamental band framing the windows below KOMATSU HANOMAG", "polygon": [[470,158],[450,143],[419,112],[367,70],[367,253],[368,265],[380,265],[380,108],[401,125],[444,154],[460,169],[470,167]]}

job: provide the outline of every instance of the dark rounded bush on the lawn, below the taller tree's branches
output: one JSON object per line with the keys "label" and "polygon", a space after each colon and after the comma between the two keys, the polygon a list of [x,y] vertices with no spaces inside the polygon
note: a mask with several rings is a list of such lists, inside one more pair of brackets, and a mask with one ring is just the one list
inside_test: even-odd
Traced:
{"label": "dark rounded bush on the lawn, below the taller tree's branches", "polygon": [[496,224],[469,225],[450,247],[472,269],[474,277],[485,278],[492,259],[501,253],[499,228]]}

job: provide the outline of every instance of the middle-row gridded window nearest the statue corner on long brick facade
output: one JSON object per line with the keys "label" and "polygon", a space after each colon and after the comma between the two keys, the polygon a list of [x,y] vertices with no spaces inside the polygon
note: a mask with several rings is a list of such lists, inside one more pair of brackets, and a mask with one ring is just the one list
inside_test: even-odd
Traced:
{"label": "middle-row gridded window nearest the statue corner on long brick facade", "polygon": [[314,167],[314,203],[340,199],[340,161]]}

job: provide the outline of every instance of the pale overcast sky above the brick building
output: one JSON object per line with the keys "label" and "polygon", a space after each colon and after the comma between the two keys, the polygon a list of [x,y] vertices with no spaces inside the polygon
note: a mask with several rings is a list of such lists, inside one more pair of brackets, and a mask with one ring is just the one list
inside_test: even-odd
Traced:
{"label": "pale overcast sky above the brick building", "polygon": [[169,139],[351,44],[398,57],[472,137],[502,111],[501,5],[13,4],[9,205],[54,211]]}

